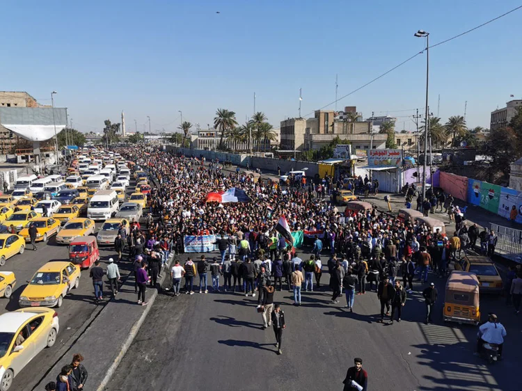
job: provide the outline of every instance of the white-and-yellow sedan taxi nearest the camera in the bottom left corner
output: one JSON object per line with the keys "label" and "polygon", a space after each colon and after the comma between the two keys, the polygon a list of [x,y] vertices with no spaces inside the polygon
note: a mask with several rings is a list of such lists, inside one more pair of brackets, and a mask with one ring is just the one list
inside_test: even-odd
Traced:
{"label": "white-and-yellow sedan taxi nearest the camera in the bottom left corner", "polygon": [[50,308],[25,308],[0,315],[0,390],[10,389],[13,379],[40,351],[56,342],[58,314]]}

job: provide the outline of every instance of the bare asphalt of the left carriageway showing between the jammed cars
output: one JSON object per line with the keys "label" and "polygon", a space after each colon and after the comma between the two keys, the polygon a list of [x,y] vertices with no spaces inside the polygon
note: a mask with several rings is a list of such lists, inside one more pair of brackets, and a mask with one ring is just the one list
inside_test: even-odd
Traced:
{"label": "bare asphalt of the left carriageway showing between the jammed cars", "polygon": [[[134,186],[129,187],[129,189],[134,189]],[[132,193],[132,191],[127,191],[127,194],[129,193]],[[101,221],[96,223],[96,232],[100,229],[102,223]],[[22,255],[17,254],[11,257],[6,261],[6,264],[0,268],[0,271],[13,271],[17,279],[17,285],[10,300],[6,298],[0,299],[0,314],[19,308],[18,298],[27,285],[26,281],[32,278],[40,266],[43,266],[50,260],[68,260],[68,246],[56,244],[54,236],[48,239],[47,244],[38,242],[37,247],[37,251],[26,249]],[[31,244],[29,244],[29,248],[31,248]],[[100,262],[104,269],[109,258],[114,257],[115,254],[112,250],[112,246],[100,247]],[[121,262],[119,266],[123,278],[123,276],[130,271],[131,265],[128,264],[128,262]],[[105,286],[104,293],[106,297],[105,300],[107,300],[107,298],[110,297],[108,285]],[[63,346],[69,346],[71,344],[72,340],[77,337],[79,330],[86,326],[88,319],[95,317],[103,305],[103,303],[97,305],[94,302],[94,290],[89,278],[89,271],[81,271],[79,288],[72,289],[72,291],[65,296],[61,308],[56,308],[60,321],[60,332],[58,333],[56,344],[52,348],[44,349],[35,356],[31,364],[27,365],[22,372],[17,374],[11,389],[21,390],[28,384],[29,379],[31,379],[31,382],[36,383],[38,379],[42,378],[49,367],[58,360]]]}

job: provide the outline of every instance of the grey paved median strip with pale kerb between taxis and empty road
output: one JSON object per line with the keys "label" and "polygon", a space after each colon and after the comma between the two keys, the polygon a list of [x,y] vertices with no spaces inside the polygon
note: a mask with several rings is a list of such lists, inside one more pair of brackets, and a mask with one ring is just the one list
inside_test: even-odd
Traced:
{"label": "grey paved median strip with pale kerb between taxis and empty road", "polygon": [[[175,256],[171,256],[168,267],[161,271],[160,287],[170,280],[169,270],[174,258]],[[145,298],[148,305],[138,305],[138,295],[134,293],[134,277],[129,274],[116,298],[104,305],[92,324],[72,342],[58,362],[49,369],[45,378],[36,385],[28,385],[24,391],[43,390],[49,381],[56,381],[61,368],[70,364],[74,353],[81,353],[85,358],[82,364],[88,372],[86,390],[103,390],[145,321],[158,290],[147,287]],[[110,297],[110,291],[104,293]]]}

